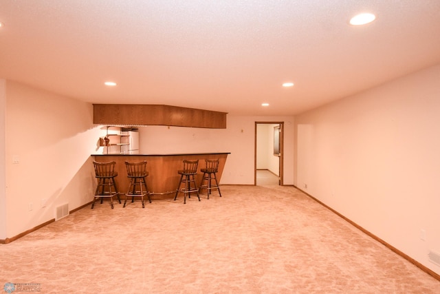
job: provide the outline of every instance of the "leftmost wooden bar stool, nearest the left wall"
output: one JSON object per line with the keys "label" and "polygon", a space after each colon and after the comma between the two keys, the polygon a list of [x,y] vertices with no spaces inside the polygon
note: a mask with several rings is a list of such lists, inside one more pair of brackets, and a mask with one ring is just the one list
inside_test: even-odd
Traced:
{"label": "leftmost wooden bar stool, nearest the left wall", "polygon": [[115,161],[111,162],[96,162],[94,161],[95,167],[95,178],[98,180],[98,186],[96,186],[94,201],[91,202],[91,209],[94,209],[95,200],[97,198],[110,198],[110,205],[113,209],[113,196],[118,196],[119,203],[121,202],[119,197],[118,188],[115,183],[115,176],[118,173],[115,172]]}

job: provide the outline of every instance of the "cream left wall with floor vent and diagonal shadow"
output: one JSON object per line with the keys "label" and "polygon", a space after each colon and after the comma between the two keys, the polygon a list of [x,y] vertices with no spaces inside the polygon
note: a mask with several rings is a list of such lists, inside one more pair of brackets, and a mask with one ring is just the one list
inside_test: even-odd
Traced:
{"label": "cream left wall with floor vent and diagonal shadow", "polygon": [[[5,96],[6,193],[0,203],[7,203],[7,225],[2,239],[52,220],[60,204],[69,202],[72,210],[91,201],[96,184],[90,154],[100,131],[90,103],[11,81],[6,81]],[[41,207],[43,199],[46,207]]]}

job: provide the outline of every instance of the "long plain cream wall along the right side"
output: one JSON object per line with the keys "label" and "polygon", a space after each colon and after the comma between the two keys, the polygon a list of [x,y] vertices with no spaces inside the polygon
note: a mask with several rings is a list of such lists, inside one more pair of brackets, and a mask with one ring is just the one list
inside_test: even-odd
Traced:
{"label": "long plain cream wall along the right side", "polygon": [[295,120],[295,184],[440,273],[440,65]]}

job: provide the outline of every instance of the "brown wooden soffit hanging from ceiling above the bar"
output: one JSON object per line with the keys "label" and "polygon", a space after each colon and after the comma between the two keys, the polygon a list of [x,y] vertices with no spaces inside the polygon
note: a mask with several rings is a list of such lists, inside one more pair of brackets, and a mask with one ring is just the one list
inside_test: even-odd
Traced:
{"label": "brown wooden soffit hanging from ceiling above the bar", "polygon": [[225,129],[226,114],[170,105],[94,104],[94,123],[98,125],[169,125]]}

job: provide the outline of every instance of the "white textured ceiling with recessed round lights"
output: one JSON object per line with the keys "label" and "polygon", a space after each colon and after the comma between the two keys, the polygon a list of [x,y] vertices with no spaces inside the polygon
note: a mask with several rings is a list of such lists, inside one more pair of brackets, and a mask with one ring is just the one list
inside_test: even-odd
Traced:
{"label": "white textured ceiling with recessed round lights", "polygon": [[0,22],[0,78],[91,103],[294,115],[440,62],[439,0],[1,0]]}

